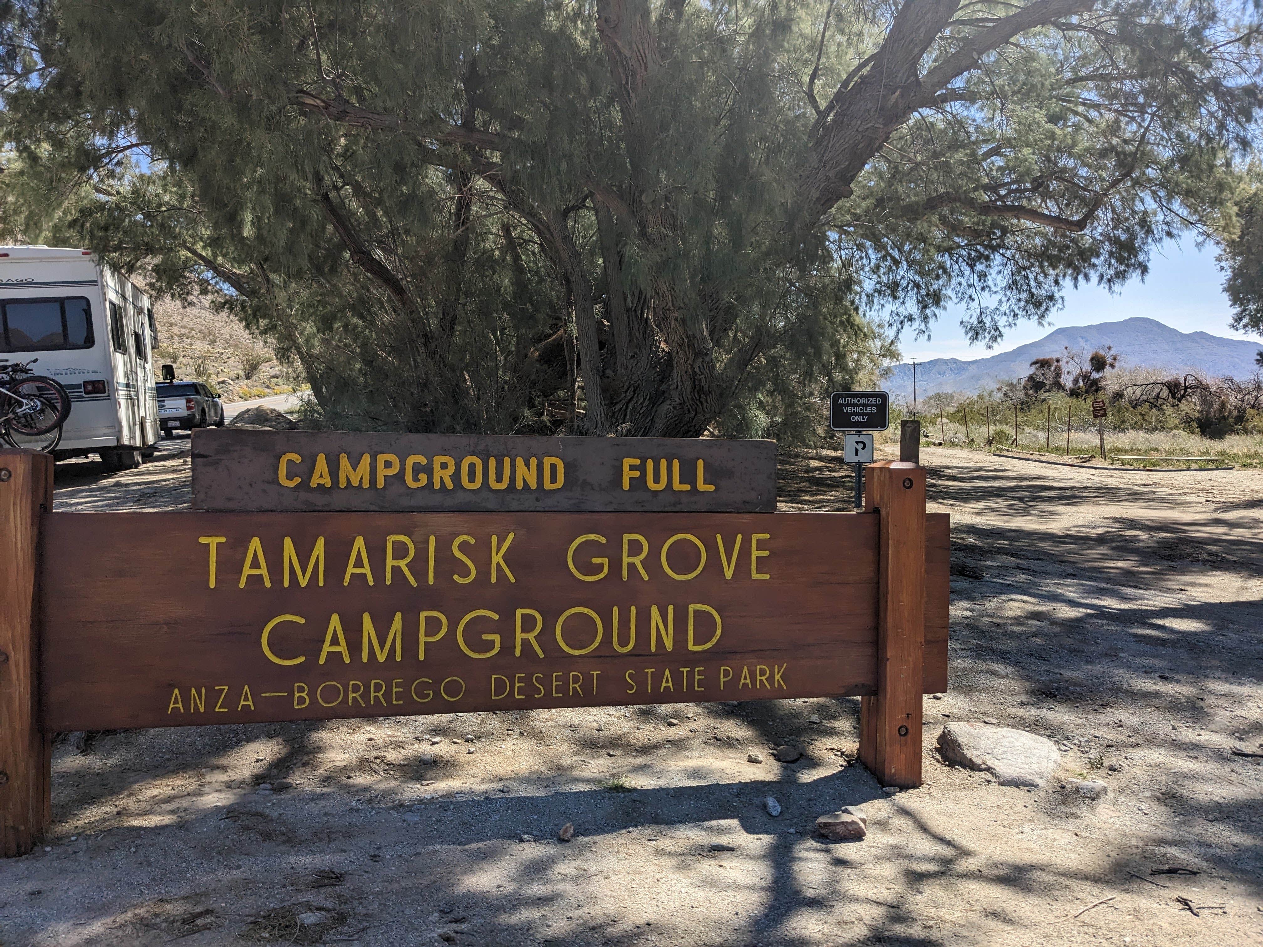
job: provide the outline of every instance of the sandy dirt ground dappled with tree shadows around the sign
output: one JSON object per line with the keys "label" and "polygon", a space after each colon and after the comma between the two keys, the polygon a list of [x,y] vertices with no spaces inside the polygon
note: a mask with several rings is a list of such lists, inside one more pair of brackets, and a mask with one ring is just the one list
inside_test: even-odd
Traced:
{"label": "sandy dirt ground dappled with tree shadows around the sign", "polygon": [[[0,862],[0,943],[1263,944],[1263,759],[1231,754],[1263,751],[1263,471],[923,461],[955,575],[921,789],[846,764],[850,698],[102,734]],[[784,460],[782,508],[845,506],[840,470]],[[188,442],[57,487],[186,505]],[[1061,778],[946,766],[949,720],[1056,740]],[[866,840],[812,837],[856,803]]]}

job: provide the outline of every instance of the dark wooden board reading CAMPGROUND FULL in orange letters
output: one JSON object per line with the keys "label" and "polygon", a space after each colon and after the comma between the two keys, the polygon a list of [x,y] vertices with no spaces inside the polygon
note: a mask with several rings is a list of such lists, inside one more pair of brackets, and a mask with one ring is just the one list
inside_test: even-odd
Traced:
{"label": "dark wooden board reading CAMPGROUND FULL in orange letters", "polygon": [[773,441],[193,432],[200,510],[770,513]]}

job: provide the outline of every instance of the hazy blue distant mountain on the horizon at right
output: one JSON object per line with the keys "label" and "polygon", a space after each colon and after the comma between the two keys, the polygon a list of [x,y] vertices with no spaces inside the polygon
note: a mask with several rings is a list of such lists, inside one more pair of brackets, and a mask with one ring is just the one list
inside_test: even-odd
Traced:
{"label": "hazy blue distant mountain on the horizon at right", "polygon": [[[1007,379],[1029,375],[1033,359],[1061,355],[1066,346],[1090,352],[1106,345],[1114,346],[1114,351],[1122,356],[1119,365],[1234,378],[1252,375],[1258,369],[1254,356],[1263,351],[1263,341],[1244,342],[1206,332],[1180,332],[1157,319],[1132,318],[1096,326],[1067,326],[1053,330],[1038,342],[1019,345],[989,359],[918,360],[917,396],[925,398],[935,391],[973,394]],[[911,399],[912,365],[895,365],[894,374],[882,386],[899,400]]]}

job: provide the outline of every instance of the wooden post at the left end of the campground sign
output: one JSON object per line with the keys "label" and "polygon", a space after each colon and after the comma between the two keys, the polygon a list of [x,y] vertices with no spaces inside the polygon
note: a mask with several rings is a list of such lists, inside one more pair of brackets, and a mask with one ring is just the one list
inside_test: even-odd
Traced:
{"label": "wooden post at the left end of the campground sign", "polygon": [[52,822],[52,746],[39,732],[35,563],[53,460],[0,451],[0,847],[25,855]]}

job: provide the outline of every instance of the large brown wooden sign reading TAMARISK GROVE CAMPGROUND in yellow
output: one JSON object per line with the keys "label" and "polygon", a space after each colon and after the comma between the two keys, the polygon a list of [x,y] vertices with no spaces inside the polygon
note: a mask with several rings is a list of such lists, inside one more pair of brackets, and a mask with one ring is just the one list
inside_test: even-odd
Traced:
{"label": "large brown wooden sign reading TAMARISK GROVE CAMPGROUND in yellow", "polygon": [[[931,516],[926,691],[946,688]],[[44,516],[43,729],[874,693],[878,516]]]}

